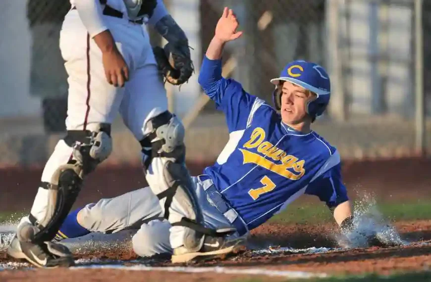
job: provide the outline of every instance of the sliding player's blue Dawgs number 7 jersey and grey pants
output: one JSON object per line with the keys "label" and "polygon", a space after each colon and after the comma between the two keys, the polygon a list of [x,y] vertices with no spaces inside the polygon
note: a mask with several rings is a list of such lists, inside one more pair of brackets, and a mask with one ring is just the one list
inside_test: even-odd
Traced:
{"label": "sliding player's blue Dawgs number 7 jersey and grey pants", "polygon": [[[222,78],[220,60],[204,58],[199,82],[224,112],[229,129],[216,163],[193,178],[208,227],[230,225],[234,236],[243,236],[304,193],[317,195],[329,208],[348,200],[338,151],[322,137],[288,127],[262,99]],[[158,198],[142,188],[69,214],[57,238],[137,226],[138,254],[169,252],[170,227],[161,216]]]}

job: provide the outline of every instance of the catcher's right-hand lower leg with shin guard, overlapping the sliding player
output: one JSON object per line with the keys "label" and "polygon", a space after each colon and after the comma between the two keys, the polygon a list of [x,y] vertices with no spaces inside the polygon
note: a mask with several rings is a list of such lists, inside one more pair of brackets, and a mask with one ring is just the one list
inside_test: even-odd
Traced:
{"label": "catcher's right-hand lower leg with shin guard, overlapping the sliding player", "polygon": [[160,200],[164,218],[172,225],[172,262],[230,252],[228,246],[214,245],[216,249],[208,250],[204,244],[235,229],[213,230],[205,227],[196,188],[185,166],[182,123],[170,112],[155,108],[144,121],[143,134],[145,139],[141,145],[146,179]]}

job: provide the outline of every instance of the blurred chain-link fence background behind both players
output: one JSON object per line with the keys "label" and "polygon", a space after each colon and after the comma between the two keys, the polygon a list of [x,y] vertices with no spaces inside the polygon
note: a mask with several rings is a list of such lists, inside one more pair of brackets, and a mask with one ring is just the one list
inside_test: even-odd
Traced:
{"label": "blurred chain-link fence background behind both players", "polygon": [[[431,132],[430,1],[422,6],[422,30],[415,27],[415,0],[169,0],[167,4],[188,35],[190,16],[197,19],[199,26],[192,27],[198,46],[193,50],[198,57],[195,66],[201,63],[223,7],[233,8],[244,36],[226,45],[223,74],[269,102],[273,90],[269,80],[288,61],[306,59],[323,65],[331,76],[331,103],[313,126],[345,159],[418,153],[418,74],[424,76],[422,128]],[[67,80],[58,37],[69,8],[69,0],[0,2],[2,38],[8,39],[0,43],[2,165],[43,165],[64,135]],[[160,36],[149,30],[152,42],[159,44]],[[421,33],[423,71],[417,72],[415,47]],[[187,88],[175,92],[175,110],[184,94]],[[193,106],[181,113],[187,145],[193,148],[188,158],[212,160],[228,139],[227,129],[214,103],[203,94],[194,97]],[[431,134],[426,137],[424,147],[431,152]],[[138,161],[139,144],[119,120],[113,138],[112,162]]]}

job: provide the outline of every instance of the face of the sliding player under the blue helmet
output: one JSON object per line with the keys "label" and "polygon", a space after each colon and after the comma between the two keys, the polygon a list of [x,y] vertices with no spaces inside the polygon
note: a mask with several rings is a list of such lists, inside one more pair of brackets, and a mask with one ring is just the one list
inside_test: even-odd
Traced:
{"label": "face of the sliding player under the blue helmet", "polygon": [[282,84],[281,95],[281,119],[286,124],[299,124],[310,120],[306,112],[308,101],[314,99],[314,95],[306,89],[291,82]]}

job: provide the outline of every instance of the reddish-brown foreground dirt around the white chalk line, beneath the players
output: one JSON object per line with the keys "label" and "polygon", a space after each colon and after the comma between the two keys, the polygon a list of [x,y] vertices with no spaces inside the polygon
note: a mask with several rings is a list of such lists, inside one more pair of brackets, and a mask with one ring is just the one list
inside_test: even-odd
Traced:
{"label": "reddish-brown foreground dirt around the white chalk line, beneath the players", "polygon": [[[58,281],[232,281],[234,279],[244,279],[244,277],[256,278],[252,275],[251,270],[265,269],[268,275],[271,272],[278,273],[279,276],[271,278],[271,281],[281,281],[289,275],[339,275],[339,274],[361,274],[361,273],[378,273],[390,274],[395,269],[397,271],[422,271],[431,266],[431,221],[416,222],[399,222],[396,224],[397,229],[401,232],[403,239],[410,241],[408,245],[398,247],[371,247],[356,249],[337,249],[335,241],[331,238],[334,231],[332,225],[326,226],[298,226],[298,225],[276,225],[266,224],[253,231],[251,237],[252,244],[265,245],[265,242],[273,241],[281,246],[303,247],[307,246],[324,246],[335,249],[327,250],[322,253],[306,253],[307,249],[299,253],[282,251],[277,244],[272,244],[265,253],[247,250],[244,253],[227,258],[224,261],[213,260],[207,262],[197,262],[189,266],[191,269],[205,267],[208,272],[203,273],[181,273],[184,269],[176,269],[176,273],[161,271],[157,267],[163,267],[165,270],[172,267],[168,257],[155,258],[153,260],[144,260],[138,258],[133,251],[127,247],[122,250],[110,250],[99,253],[76,254],[76,259],[87,261],[81,263],[78,269],[57,269],[57,270],[5,270],[0,272],[0,280],[26,280],[46,281],[48,278],[55,277]],[[277,238],[277,239],[275,239]],[[2,253],[0,263],[13,263]],[[98,261],[98,265],[107,264],[109,260],[122,260],[121,269],[89,269],[91,265]],[[89,260],[93,260],[90,263]],[[112,262],[111,262],[112,263]],[[146,265],[147,269],[143,271],[127,271],[126,267]],[[84,269],[79,269],[79,267]],[[94,266],[93,266],[94,267]],[[156,269],[149,269],[149,268]],[[219,273],[215,273],[214,267],[218,268]],[[21,267],[22,268],[22,267]],[[245,270],[249,274],[239,275],[222,273],[222,270]],[[139,270],[136,268],[135,270]],[[153,271],[148,271],[153,270]],[[282,276],[284,275],[284,276]],[[259,275],[257,275],[259,276]]]}

